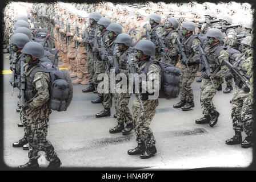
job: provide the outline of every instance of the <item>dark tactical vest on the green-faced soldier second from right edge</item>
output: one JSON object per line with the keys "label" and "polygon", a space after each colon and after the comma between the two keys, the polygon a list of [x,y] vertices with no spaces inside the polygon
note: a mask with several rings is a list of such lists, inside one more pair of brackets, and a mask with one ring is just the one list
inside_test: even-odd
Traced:
{"label": "dark tactical vest on the green-faced soldier second from right edge", "polygon": [[[209,67],[213,72],[218,72],[217,68],[220,69],[219,65],[215,62],[217,57],[219,57],[219,53],[221,53],[222,49],[224,49],[224,46],[219,46],[217,49],[215,49],[214,52],[211,53],[206,53],[206,59],[208,61]],[[205,71],[205,65],[203,64],[203,73],[202,77],[208,79],[209,77],[207,76],[207,73]]]}

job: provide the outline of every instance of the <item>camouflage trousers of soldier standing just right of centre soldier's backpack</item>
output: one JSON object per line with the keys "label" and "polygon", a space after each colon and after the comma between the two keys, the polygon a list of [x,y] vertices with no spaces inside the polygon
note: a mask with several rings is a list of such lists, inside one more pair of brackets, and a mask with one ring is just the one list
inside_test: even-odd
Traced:
{"label": "camouflage trousers of soldier standing just right of centre soldier's backpack", "polygon": [[197,64],[191,65],[189,69],[187,69],[186,65],[181,65],[181,73],[179,75],[179,82],[181,83],[181,87],[179,93],[181,94],[181,101],[193,102],[194,95],[193,90],[191,89],[191,84],[195,80],[195,76],[197,75]]}

